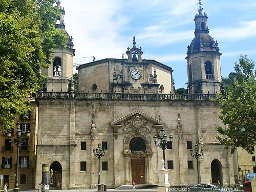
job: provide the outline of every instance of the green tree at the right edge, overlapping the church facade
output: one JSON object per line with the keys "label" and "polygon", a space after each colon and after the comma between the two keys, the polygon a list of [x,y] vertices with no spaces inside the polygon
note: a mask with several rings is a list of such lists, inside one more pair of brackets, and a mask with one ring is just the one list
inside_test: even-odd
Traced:
{"label": "green tree at the right edge, overlapping the church facade", "polygon": [[233,83],[228,88],[226,98],[218,96],[222,115],[220,118],[227,125],[219,126],[217,139],[226,148],[231,148],[231,153],[236,147],[242,147],[252,154],[252,147],[256,144],[256,83],[254,62],[247,56],[241,55],[239,63],[234,63]]}

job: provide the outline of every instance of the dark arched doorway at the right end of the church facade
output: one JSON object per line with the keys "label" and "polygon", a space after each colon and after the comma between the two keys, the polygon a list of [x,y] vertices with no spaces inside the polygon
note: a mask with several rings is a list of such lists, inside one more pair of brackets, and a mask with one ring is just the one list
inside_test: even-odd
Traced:
{"label": "dark arched doorway at the right end of the church facade", "polygon": [[222,181],[222,165],[221,162],[218,159],[214,159],[211,164],[211,181],[212,184],[218,184],[218,180],[220,182],[220,185],[223,184]]}

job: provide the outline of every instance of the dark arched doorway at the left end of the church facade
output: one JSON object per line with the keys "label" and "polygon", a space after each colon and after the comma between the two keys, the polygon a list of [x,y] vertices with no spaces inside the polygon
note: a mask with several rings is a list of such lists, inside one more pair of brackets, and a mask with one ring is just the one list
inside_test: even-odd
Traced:
{"label": "dark arched doorway at the left end of the church facade", "polygon": [[57,183],[62,182],[62,166],[58,161],[54,161],[50,166],[50,187],[57,187]]}

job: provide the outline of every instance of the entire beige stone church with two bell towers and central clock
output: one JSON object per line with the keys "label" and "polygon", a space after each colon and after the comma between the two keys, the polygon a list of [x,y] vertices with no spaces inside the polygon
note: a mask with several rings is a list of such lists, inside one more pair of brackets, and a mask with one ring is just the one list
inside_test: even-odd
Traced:
{"label": "entire beige stone church with two bell towers and central clock", "polygon": [[[56,28],[65,30],[60,10]],[[73,91],[72,36],[66,49],[53,50],[48,77],[36,95],[37,142],[35,183],[41,181],[42,165],[50,165],[50,187],[96,188],[100,182],[119,185],[157,184],[163,151],[154,143],[164,129],[173,136],[165,151],[169,183],[197,183],[195,144],[203,148],[199,158],[202,183],[234,184],[233,156],[215,138],[219,119],[216,102],[221,91],[218,42],[209,35],[207,15],[198,9],[195,38],[187,47],[187,95],[175,95],[173,69],[154,59],[143,59],[135,37],[126,57],[106,58],[80,65],[78,93]],[[65,31],[66,32],[66,31]],[[69,34],[66,32],[66,35]],[[223,125],[225,126],[225,125]],[[168,140],[168,139],[167,139]],[[100,143],[105,155],[93,148]]]}

